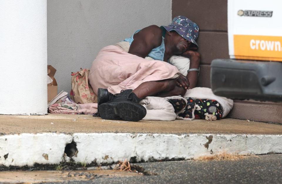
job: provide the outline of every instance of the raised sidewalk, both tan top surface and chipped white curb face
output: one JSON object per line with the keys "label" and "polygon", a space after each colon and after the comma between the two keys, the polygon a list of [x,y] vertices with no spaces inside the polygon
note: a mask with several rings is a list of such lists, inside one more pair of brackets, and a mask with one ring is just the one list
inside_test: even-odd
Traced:
{"label": "raised sidewalk, both tan top surface and chipped white curb face", "polygon": [[0,125],[0,165],[5,166],[282,153],[281,125],[231,118],[127,122],[90,115],[1,115]]}

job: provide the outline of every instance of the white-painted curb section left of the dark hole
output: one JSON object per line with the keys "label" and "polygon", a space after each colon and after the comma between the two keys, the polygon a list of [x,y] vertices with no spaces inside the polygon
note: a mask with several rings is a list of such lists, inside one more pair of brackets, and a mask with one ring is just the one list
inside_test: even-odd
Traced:
{"label": "white-painted curb section left of the dark hole", "polygon": [[66,144],[72,140],[73,137],[70,135],[56,133],[0,136],[0,165],[31,166],[34,163],[60,163]]}

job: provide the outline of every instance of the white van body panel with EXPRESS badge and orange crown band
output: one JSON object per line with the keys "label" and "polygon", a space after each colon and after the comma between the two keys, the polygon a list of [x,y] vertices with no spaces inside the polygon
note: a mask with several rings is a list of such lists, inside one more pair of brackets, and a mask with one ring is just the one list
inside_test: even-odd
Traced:
{"label": "white van body panel with EXPRESS badge and orange crown band", "polygon": [[282,61],[282,1],[228,0],[230,58]]}

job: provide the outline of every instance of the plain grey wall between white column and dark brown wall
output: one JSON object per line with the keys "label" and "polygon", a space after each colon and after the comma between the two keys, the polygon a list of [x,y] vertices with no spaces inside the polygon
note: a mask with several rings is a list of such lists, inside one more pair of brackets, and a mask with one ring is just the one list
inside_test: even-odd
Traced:
{"label": "plain grey wall between white column and dark brown wall", "polygon": [[58,91],[70,92],[70,73],[90,68],[104,46],[137,29],[171,21],[171,0],[47,0],[48,64]]}

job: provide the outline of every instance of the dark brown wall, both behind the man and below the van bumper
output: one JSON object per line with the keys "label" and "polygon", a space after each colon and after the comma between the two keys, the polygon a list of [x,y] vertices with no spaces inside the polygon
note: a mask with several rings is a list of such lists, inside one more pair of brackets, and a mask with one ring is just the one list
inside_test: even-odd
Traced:
{"label": "dark brown wall, both behind the man and below the van bumper", "polygon": [[[198,87],[210,88],[210,63],[216,58],[229,58],[227,34],[227,0],[172,0],[172,19],[186,16],[200,28],[201,53]],[[234,101],[229,117],[282,123],[282,103]]]}

